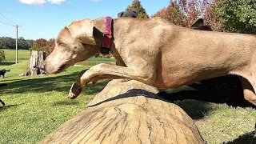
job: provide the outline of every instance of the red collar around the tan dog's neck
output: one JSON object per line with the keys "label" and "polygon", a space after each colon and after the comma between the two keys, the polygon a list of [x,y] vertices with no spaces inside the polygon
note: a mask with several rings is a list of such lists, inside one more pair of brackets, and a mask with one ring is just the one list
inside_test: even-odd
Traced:
{"label": "red collar around the tan dog's neck", "polygon": [[110,42],[111,42],[111,28],[112,28],[112,18],[105,18],[105,30],[103,34],[103,42],[102,42],[102,54],[110,54]]}

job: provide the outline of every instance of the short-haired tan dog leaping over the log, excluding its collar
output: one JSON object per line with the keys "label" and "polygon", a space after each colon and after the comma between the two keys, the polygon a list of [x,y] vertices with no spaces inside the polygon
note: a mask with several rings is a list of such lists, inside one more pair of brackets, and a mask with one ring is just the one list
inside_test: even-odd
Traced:
{"label": "short-haired tan dog leaping over the log, excluding its collar", "polygon": [[[105,18],[65,26],[44,69],[60,73],[98,54]],[[227,74],[241,76],[246,100],[256,105],[256,37],[191,30],[161,18],[114,19],[110,51],[119,66],[99,64],[82,71],[70,89],[76,98],[88,82],[130,78],[158,88],[174,88]]]}

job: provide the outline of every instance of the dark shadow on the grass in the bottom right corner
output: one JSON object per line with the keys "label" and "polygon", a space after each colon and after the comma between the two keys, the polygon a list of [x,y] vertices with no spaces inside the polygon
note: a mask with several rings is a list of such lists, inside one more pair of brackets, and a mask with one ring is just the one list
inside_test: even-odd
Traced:
{"label": "dark shadow on the grass in the bottom right corner", "polygon": [[232,142],[224,142],[224,144],[255,144],[256,143],[256,130],[242,134]]}

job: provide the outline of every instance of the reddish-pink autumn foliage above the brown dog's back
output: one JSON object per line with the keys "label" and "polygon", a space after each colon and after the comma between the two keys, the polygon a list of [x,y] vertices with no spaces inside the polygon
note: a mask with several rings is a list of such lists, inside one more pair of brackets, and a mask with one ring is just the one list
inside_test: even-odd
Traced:
{"label": "reddish-pink autumn foliage above the brown dog's back", "polygon": [[189,27],[198,18],[203,18],[214,30],[221,29],[221,23],[214,14],[217,0],[170,0],[166,8],[162,8],[152,17],[161,17],[170,22]]}

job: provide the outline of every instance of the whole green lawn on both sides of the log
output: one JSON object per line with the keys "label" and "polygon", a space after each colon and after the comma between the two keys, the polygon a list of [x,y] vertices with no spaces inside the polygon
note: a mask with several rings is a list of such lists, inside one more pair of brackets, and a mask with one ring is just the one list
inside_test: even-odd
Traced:
{"label": "whole green lawn on both sides of the log", "polygon": [[[106,85],[106,82],[99,82],[96,86],[89,84],[77,99],[69,100],[66,95],[78,72],[90,66],[71,66],[61,74],[19,78],[18,74],[28,66],[30,52],[21,50],[18,55],[18,64],[0,66],[0,69],[11,69],[6,78],[0,78],[0,83],[8,84],[0,87],[0,98],[6,102],[6,106],[0,106],[0,143],[39,142],[84,109]],[[90,61],[100,62],[100,59]],[[6,62],[15,62],[14,50],[6,50]],[[256,142],[256,135],[252,133],[256,122],[254,109],[234,109],[225,104],[195,100],[176,104],[194,119],[208,143]]]}

